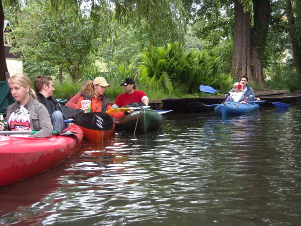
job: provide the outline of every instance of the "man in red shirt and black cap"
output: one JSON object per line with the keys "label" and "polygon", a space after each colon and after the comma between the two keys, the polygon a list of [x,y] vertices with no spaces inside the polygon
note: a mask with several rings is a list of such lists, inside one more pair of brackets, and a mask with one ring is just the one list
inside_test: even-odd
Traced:
{"label": "man in red shirt and black cap", "polygon": [[137,103],[138,106],[147,106],[148,97],[141,90],[136,90],[135,82],[131,78],[127,78],[120,86],[123,86],[124,93],[119,94],[116,98],[113,108],[130,107]]}

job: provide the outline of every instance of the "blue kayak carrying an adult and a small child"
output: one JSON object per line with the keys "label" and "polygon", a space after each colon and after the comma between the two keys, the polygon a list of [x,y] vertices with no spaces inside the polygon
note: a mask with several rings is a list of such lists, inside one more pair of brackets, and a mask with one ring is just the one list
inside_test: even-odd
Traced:
{"label": "blue kayak carrying an adult and a small child", "polygon": [[255,103],[239,103],[235,101],[224,101],[214,108],[214,112],[222,117],[232,115],[243,115],[259,110],[259,105]]}

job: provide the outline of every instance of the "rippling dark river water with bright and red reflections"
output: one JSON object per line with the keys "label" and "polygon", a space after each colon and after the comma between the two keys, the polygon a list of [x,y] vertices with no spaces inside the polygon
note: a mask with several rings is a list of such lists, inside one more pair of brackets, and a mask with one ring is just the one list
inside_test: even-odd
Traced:
{"label": "rippling dark river water with bright and red reflections", "polygon": [[301,224],[301,106],[164,117],[0,188],[0,225]]}

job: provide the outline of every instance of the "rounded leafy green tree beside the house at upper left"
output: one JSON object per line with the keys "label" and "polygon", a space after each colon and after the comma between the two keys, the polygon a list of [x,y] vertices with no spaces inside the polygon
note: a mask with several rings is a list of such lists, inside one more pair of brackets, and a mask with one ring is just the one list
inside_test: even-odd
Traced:
{"label": "rounded leafy green tree beside the house at upper left", "polygon": [[[92,32],[92,21],[85,16],[74,17],[71,11],[48,15],[44,11],[42,5],[31,5],[24,10],[24,19],[13,32],[15,51],[22,48],[25,66],[31,66],[25,68],[28,74],[45,74],[51,68],[58,72],[58,67],[62,67],[75,81],[95,61],[94,54],[101,44],[97,37],[101,34]],[[42,70],[41,65],[50,69]]]}

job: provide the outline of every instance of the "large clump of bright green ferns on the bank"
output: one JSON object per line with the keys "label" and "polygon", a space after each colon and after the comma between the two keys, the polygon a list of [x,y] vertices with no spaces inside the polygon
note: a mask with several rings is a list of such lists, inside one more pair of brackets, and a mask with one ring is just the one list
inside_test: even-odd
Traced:
{"label": "large clump of bright green ferns on the bank", "polygon": [[232,80],[221,73],[219,65],[219,57],[209,56],[204,50],[185,54],[177,43],[167,48],[154,47],[150,53],[144,51],[139,62],[141,78],[151,78],[151,85],[163,87],[169,94],[176,88],[196,93],[201,84],[228,88]]}

